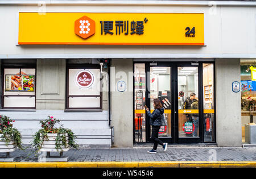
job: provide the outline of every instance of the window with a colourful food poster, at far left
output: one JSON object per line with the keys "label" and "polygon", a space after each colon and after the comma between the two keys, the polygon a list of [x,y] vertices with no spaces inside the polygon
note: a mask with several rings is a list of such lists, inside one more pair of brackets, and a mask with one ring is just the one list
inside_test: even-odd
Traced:
{"label": "window with a colourful food poster, at far left", "polygon": [[35,68],[3,68],[3,109],[35,109]]}

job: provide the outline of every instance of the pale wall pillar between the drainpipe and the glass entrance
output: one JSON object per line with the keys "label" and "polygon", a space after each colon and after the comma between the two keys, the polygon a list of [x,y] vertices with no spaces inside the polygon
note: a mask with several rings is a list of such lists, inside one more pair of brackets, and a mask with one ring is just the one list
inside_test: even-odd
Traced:
{"label": "pale wall pillar between the drainpipe and the glass entrance", "polygon": [[[112,60],[110,73],[114,146],[133,147],[133,60]],[[118,81],[126,82],[126,91],[117,91]]]}

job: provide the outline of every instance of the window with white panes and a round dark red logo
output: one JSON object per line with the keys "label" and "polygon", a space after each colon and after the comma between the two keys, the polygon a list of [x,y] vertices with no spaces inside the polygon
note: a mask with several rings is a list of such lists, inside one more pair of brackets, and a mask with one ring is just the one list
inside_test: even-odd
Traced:
{"label": "window with white panes and a round dark red logo", "polygon": [[100,65],[69,68],[67,109],[102,109],[101,82]]}

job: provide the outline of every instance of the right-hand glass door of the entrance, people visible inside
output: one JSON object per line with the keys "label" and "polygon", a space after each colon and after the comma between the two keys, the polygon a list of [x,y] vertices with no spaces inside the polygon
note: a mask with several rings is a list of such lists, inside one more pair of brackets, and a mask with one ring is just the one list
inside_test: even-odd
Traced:
{"label": "right-hand glass door of the entrance, people visible inside", "polygon": [[200,90],[199,68],[197,66],[177,66],[177,143],[200,142]]}

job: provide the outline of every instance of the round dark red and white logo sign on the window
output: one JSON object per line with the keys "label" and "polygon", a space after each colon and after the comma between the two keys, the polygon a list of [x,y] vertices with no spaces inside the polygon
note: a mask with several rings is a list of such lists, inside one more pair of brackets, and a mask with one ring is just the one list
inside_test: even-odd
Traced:
{"label": "round dark red and white logo sign on the window", "polygon": [[81,70],[76,74],[76,84],[81,88],[89,88],[93,81],[93,74],[89,70]]}

